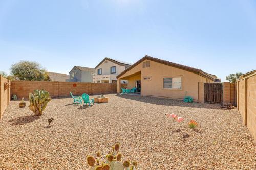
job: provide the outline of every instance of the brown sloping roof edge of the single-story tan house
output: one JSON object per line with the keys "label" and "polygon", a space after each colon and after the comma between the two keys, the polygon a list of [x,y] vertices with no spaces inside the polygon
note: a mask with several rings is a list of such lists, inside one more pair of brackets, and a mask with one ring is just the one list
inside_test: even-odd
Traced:
{"label": "brown sloping roof edge of the single-story tan house", "polygon": [[121,72],[117,76],[117,78],[121,77],[123,74],[125,74],[125,72],[128,72],[129,70],[131,70],[132,68],[134,68],[136,65],[138,65],[139,63],[141,63],[144,60],[151,60],[151,61],[155,61],[155,62],[158,62],[158,63],[161,63],[161,64],[165,64],[165,65],[169,65],[169,66],[172,66],[172,67],[180,68],[180,69],[183,69],[183,70],[186,70],[186,71],[194,72],[195,74],[198,74],[198,75],[203,76],[205,78],[214,80],[214,78],[212,78],[211,76],[206,74],[206,72],[202,71],[201,69],[197,69],[197,68],[193,68],[193,67],[188,67],[188,66],[185,66],[185,65],[181,65],[181,64],[177,64],[177,63],[161,60],[161,59],[154,58],[154,57],[147,56],[147,55],[145,57],[143,57],[142,59],[140,59],[139,61],[137,61],[136,63],[134,63],[128,69],[126,69],[123,72]]}

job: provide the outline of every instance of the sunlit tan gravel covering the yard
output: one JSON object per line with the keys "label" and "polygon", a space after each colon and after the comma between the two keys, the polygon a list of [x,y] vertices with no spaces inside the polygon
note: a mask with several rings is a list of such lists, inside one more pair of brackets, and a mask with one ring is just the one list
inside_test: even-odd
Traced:
{"label": "sunlit tan gravel covering the yard", "polygon": [[[92,107],[53,99],[40,117],[11,101],[0,120],[0,169],[89,169],[87,155],[106,155],[117,142],[122,160],[137,160],[139,169],[256,169],[256,144],[236,109],[107,96],[109,103]],[[188,128],[191,119],[198,130]]]}

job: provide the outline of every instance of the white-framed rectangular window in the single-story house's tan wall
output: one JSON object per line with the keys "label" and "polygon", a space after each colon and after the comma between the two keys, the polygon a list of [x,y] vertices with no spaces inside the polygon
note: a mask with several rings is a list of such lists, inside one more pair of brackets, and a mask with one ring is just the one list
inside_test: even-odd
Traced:
{"label": "white-framed rectangular window in the single-story house's tan wall", "polygon": [[181,77],[166,77],[163,78],[163,88],[166,89],[181,89],[182,78]]}

